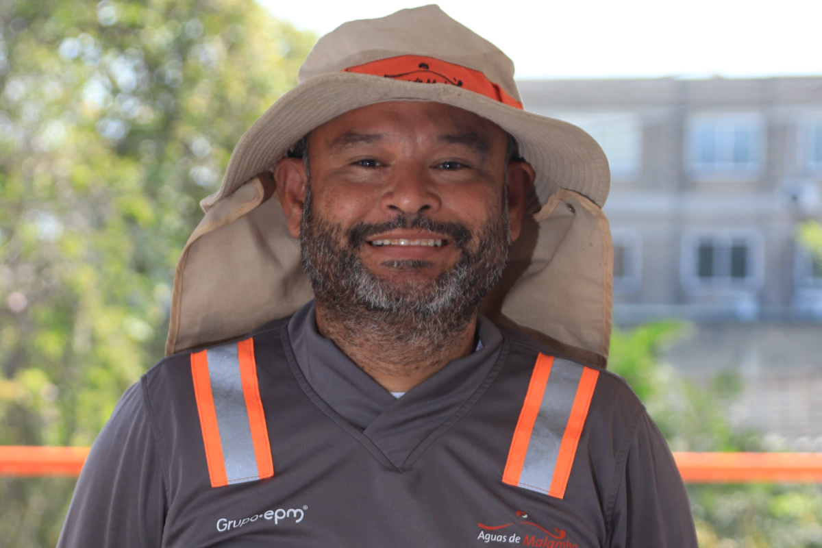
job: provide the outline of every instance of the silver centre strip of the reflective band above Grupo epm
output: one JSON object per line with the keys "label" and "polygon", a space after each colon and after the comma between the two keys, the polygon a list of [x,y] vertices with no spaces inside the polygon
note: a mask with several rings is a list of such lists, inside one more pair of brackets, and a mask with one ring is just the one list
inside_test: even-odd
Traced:
{"label": "silver centre strip of the reflective band above Grupo epm", "polygon": [[208,375],[229,484],[259,479],[236,344],[208,349]]}

